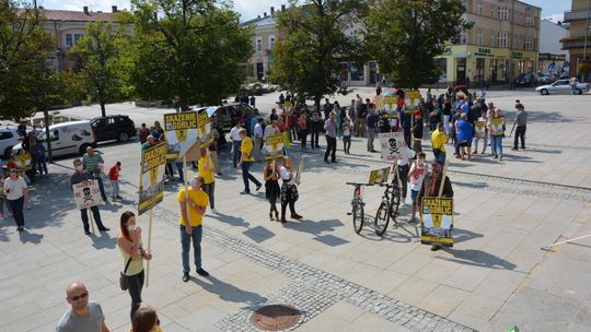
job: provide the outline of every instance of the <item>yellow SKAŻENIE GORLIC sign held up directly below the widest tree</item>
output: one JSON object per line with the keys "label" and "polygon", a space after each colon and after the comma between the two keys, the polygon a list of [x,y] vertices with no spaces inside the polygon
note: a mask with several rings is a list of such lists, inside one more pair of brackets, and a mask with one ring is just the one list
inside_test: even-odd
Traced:
{"label": "yellow SKA\u017bENIE GORLIC sign held up directly below the widest tree", "polygon": [[169,159],[183,156],[188,162],[199,159],[199,145],[195,143],[199,139],[199,115],[196,111],[185,111],[164,115],[164,133],[169,144]]}

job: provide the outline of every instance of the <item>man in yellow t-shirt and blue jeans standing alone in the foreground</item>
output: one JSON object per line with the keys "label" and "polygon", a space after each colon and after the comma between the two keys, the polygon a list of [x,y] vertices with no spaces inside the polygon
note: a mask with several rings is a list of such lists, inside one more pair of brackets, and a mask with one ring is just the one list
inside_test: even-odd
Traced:
{"label": "man in yellow t-shirt and blue jeans standing alone in the foreground", "polygon": [[[201,189],[204,178],[201,176],[195,176],[190,180],[190,186],[187,192],[185,187],[178,191],[177,200],[181,208],[181,245],[183,259],[183,281],[186,283],[189,281],[189,246],[193,239],[193,253],[195,257],[195,265],[197,266],[197,274],[200,276],[208,276],[209,273],[201,268],[201,237],[204,229],[201,223],[204,214],[209,204],[209,198],[207,193]],[[188,221],[188,222],[187,222]]]}

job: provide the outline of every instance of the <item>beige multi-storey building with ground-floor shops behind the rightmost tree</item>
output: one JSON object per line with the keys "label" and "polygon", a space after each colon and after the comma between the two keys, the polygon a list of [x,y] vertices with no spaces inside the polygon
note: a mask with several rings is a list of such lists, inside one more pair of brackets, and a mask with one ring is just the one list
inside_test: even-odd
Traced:
{"label": "beige multi-storey building with ground-floor shops behind the rightmost tree", "polygon": [[438,59],[441,83],[508,83],[537,73],[542,9],[518,0],[463,0],[474,26]]}

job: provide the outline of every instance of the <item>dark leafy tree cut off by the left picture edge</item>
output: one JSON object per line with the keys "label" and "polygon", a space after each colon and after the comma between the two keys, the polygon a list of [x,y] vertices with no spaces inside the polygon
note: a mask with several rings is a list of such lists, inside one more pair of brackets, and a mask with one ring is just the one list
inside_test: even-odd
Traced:
{"label": "dark leafy tree cut off by the left picture edge", "polygon": [[19,120],[42,110],[48,100],[43,92],[54,82],[45,63],[54,45],[39,26],[39,12],[0,2],[0,117]]}

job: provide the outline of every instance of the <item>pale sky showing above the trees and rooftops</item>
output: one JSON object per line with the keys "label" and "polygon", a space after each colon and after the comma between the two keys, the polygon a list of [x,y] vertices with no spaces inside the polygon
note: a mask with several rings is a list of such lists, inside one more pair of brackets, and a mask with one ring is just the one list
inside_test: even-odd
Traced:
{"label": "pale sky showing above the trees and rooftops", "polygon": [[[92,11],[109,12],[112,5],[119,9],[129,9],[129,0],[37,0],[39,5],[47,9],[62,9],[80,11],[88,5]],[[270,7],[280,9],[287,0],[234,0],[234,9],[241,13],[242,21],[255,19],[269,13]],[[542,8],[542,17],[554,22],[563,20],[563,13],[570,9],[570,0],[524,0],[524,2]]]}

